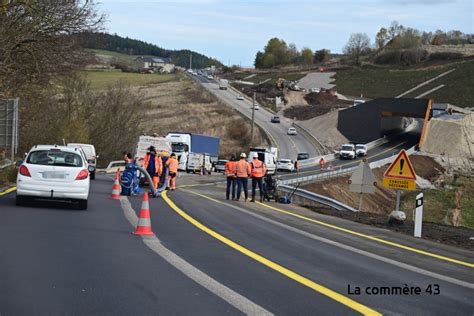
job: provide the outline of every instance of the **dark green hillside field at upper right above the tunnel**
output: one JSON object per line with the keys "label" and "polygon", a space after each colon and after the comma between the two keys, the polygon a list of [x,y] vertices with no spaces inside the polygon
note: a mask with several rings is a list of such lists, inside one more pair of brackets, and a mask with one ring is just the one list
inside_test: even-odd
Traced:
{"label": "dark green hillside field at upper right above the tunnel", "polygon": [[435,80],[405,97],[416,97],[436,86],[444,88],[427,95],[438,103],[450,103],[461,107],[474,106],[474,60],[419,69],[387,69],[363,67],[337,70],[335,84],[338,92],[349,96],[367,98],[395,97],[416,85],[450,69],[452,73]]}

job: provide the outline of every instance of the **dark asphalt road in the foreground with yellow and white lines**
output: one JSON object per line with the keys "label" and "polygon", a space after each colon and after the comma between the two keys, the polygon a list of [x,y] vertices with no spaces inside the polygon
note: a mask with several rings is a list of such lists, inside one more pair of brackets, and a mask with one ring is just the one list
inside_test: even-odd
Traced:
{"label": "dark asphalt road in the foreground with yellow and white lines", "polygon": [[[229,203],[220,180],[182,175],[181,189],[151,199],[155,239],[131,234],[142,197],[111,200],[106,176],[87,211],[0,196],[0,314],[473,313],[472,251],[293,205]],[[404,287],[421,292],[375,294]]]}

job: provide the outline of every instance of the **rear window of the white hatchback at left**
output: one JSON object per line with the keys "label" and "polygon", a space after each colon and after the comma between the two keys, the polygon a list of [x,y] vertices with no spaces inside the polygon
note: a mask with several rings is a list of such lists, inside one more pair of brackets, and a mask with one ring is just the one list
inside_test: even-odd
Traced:
{"label": "rear window of the white hatchback at left", "polygon": [[78,154],[54,149],[33,151],[26,162],[44,166],[82,167],[82,159]]}

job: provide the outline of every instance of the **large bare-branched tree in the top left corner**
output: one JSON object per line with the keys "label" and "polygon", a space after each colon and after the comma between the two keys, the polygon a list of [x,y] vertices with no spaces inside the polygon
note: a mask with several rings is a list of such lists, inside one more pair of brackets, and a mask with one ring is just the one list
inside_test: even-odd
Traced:
{"label": "large bare-branched tree in the top left corner", "polygon": [[85,57],[68,36],[100,29],[92,0],[2,1],[0,94],[69,74]]}

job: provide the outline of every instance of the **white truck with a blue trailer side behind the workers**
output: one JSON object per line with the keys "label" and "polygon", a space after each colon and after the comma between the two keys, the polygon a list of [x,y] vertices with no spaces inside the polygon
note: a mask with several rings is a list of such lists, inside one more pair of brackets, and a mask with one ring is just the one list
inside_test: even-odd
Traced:
{"label": "white truck with a blue trailer side behind the workers", "polygon": [[194,133],[170,132],[166,139],[171,142],[171,150],[178,159],[178,170],[186,171],[189,153],[207,154],[212,162],[219,157],[218,137],[200,135]]}

